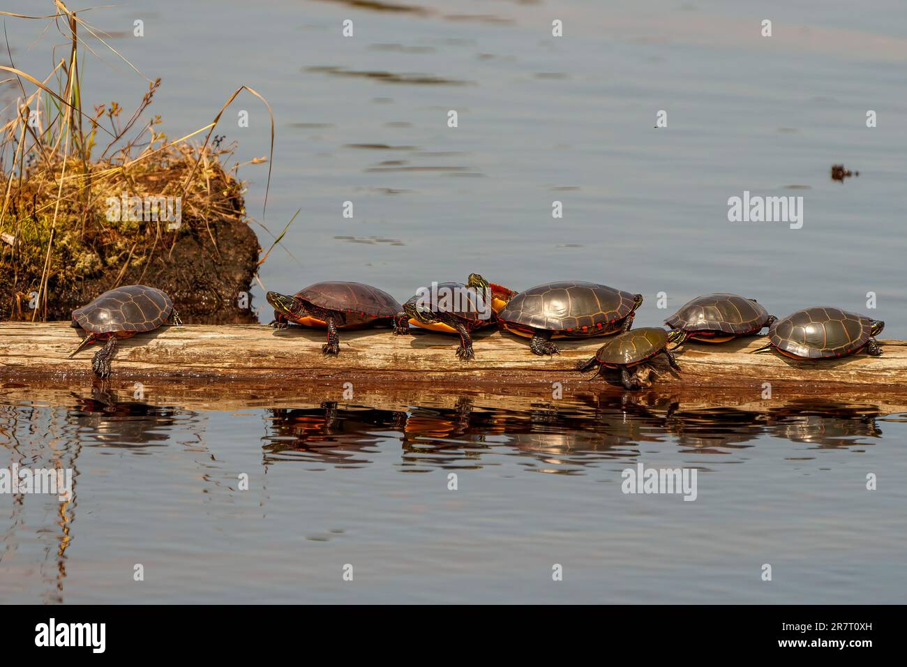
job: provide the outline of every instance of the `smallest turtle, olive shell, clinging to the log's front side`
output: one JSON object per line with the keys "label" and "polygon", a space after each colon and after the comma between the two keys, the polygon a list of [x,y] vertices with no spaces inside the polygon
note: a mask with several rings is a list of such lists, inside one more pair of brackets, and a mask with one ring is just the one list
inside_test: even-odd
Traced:
{"label": "smallest turtle, olive shell, clinging to the log's front side", "polygon": [[639,389],[639,378],[630,373],[628,368],[639,366],[658,354],[668,357],[671,368],[679,371],[677,359],[668,351],[668,343],[676,343],[687,336],[681,329],[666,331],[660,327],[643,327],[619,333],[602,345],[595,356],[583,359],[577,364],[580,371],[599,368],[619,368],[620,382],[630,391]]}

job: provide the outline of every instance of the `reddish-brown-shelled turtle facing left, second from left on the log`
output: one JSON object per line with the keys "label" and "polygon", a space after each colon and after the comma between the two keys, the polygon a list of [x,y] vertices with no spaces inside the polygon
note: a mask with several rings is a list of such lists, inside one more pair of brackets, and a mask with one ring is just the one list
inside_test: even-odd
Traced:
{"label": "reddish-brown-shelled turtle facing left, second from left on the log", "polygon": [[317,282],[300,289],[294,296],[268,292],[268,303],[274,307],[271,327],[284,329],[288,322],[304,327],[327,327],[325,354],[340,353],[337,329],[357,329],[376,324],[391,324],[394,333],[405,333],[405,319],[398,314],[403,306],[383,289],[361,282]]}

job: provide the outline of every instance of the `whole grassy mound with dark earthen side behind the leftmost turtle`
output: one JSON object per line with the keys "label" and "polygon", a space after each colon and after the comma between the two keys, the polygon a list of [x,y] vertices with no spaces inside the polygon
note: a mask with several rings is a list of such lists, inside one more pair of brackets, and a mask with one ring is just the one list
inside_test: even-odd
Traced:
{"label": "whole grassy mound with dark earthen side behind the leftmost turtle", "polygon": [[8,48],[10,64],[0,65],[0,319],[68,319],[102,291],[142,282],[170,293],[184,318],[241,321],[238,292],[254,279],[258,240],[240,165],[227,166],[236,146],[215,128],[239,93],[263,98],[239,88],[211,123],[179,139],[150,113],[160,79],[132,112],[86,105],[79,71],[96,44],[83,40],[121,56],[82,15],[53,6],[48,16],[0,12],[50,22],[69,42],[44,78],[17,69]]}

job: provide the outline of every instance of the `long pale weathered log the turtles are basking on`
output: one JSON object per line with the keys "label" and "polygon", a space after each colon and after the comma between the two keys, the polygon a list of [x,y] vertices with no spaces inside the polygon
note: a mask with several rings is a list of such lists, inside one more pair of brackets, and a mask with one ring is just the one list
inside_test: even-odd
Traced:
{"label": "long pale weathered log the turtles are basking on", "polygon": [[[0,378],[91,377],[96,347],[74,358],[70,353],[81,332],[68,322],[0,324]],[[561,382],[616,386],[616,374],[589,379],[573,370],[607,338],[559,340],[561,355],[541,358],[529,350],[528,339],[479,332],[475,359],[463,362],[453,354],[458,338],[429,331],[394,336],[387,329],[341,332],[338,357],[322,354],[323,330],[263,325],[187,325],[162,327],[122,339],[113,361],[113,379],[206,378],[246,380],[292,386],[346,380],[395,385],[431,383],[428,387],[545,387]],[[663,357],[653,362],[658,387],[728,387],[761,390],[764,383],[828,393],[863,390],[907,394],[907,341],[883,340],[882,357],[860,354],[839,359],[800,361],[775,352],[749,354],[765,338],[739,338],[722,344],[688,342],[678,349],[682,373],[668,369]]]}

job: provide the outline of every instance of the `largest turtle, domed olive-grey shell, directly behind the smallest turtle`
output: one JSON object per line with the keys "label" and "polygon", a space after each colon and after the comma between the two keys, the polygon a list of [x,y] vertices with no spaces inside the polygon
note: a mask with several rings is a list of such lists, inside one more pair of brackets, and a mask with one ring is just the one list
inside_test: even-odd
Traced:
{"label": "largest turtle, domed olive-grey shell, directly behind the smallest turtle", "polygon": [[560,354],[551,338],[590,338],[628,331],[641,294],[580,280],[546,282],[518,292],[498,313],[502,329],[532,338],[537,355]]}

